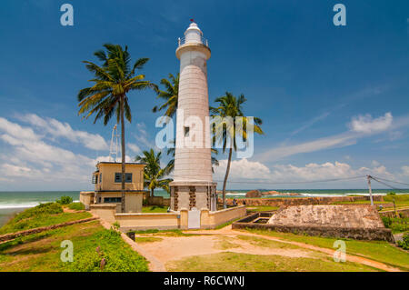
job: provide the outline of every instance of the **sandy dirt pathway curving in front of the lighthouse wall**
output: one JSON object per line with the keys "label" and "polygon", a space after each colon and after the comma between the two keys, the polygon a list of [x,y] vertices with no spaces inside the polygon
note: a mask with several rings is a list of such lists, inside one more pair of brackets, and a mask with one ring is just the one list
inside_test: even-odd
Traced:
{"label": "sandy dirt pathway curving in front of the lighthouse wall", "polygon": [[[157,235],[160,241],[151,243],[135,243],[126,235],[126,239],[132,242],[137,252],[151,262],[152,271],[165,271],[165,264],[170,261],[179,260],[194,255],[210,255],[223,252],[234,252],[252,255],[282,255],[287,257],[308,257],[323,258],[333,257],[334,250],[322,248],[315,245],[306,245],[299,242],[287,241],[268,235],[257,235],[248,232],[233,230],[231,225],[225,226],[219,230],[199,230],[185,231],[186,234],[195,234],[190,236],[168,236]],[[144,235],[146,236],[146,235]],[[276,242],[274,245],[257,245],[252,243],[252,239],[244,240],[243,236],[253,238],[263,238]],[[296,247],[295,247],[295,246]],[[374,268],[388,271],[400,272],[401,270],[383,263],[373,261],[368,258],[346,255],[348,262],[354,262],[362,265],[372,266]]]}

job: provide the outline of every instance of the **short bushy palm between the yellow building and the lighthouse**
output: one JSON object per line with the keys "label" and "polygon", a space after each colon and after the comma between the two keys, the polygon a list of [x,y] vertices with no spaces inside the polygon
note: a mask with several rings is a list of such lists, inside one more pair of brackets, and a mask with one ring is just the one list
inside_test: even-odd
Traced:
{"label": "short bushy palm between the yellow building and the lighthouse", "polygon": [[167,168],[161,168],[162,152],[155,154],[154,149],[144,151],[143,155],[135,157],[136,162],[145,163],[144,179],[145,187],[151,191],[151,197],[154,196],[155,188],[162,188],[169,192],[169,183],[172,179],[164,178],[167,173]]}

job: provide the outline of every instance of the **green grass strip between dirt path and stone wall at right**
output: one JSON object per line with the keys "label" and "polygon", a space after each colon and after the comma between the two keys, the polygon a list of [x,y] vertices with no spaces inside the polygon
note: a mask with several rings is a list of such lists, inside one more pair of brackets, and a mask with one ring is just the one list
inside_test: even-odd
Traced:
{"label": "green grass strip between dirt path and stone wall at right", "polygon": [[[290,233],[278,233],[264,230],[247,229],[247,231],[254,234],[270,235],[282,238],[284,240],[331,249],[334,249],[334,241],[338,240],[337,238],[330,237],[294,235]],[[345,241],[347,254],[361,255],[373,259],[374,261],[396,266],[406,271],[409,270],[409,252],[404,252],[394,245],[383,241],[357,241],[351,239],[342,240]]]}

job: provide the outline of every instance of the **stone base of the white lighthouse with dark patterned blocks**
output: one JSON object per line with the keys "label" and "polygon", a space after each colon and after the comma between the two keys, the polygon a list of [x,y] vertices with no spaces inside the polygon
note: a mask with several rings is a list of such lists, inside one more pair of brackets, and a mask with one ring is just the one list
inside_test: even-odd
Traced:
{"label": "stone base of the white lighthouse with dark patterned blocks", "polygon": [[171,210],[179,211],[201,210],[207,208],[210,211],[217,210],[217,193],[214,182],[174,181],[170,184]]}

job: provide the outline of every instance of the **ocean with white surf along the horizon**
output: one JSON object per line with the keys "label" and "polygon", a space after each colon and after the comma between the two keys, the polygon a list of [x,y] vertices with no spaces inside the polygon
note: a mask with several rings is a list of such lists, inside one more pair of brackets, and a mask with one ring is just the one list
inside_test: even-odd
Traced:
{"label": "ocean with white surf along the horizon", "polygon": [[[342,195],[369,195],[367,189],[259,189],[262,192],[275,190],[280,193],[296,193],[297,196],[342,196]],[[226,197],[244,198],[249,190],[227,190]],[[389,189],[373,189],[374,195],[386,195]],[[0,192],[0,226],[22,212],[25,208],[39,205],[40,203],[54,202],[63,195],[68,195],[74,201],[79,200],[79,191],[25,191],[25,192]],[[394,190],[396,194],[409,194],[409,189]],[[169,197],[164,190],[155,190],[156,196]],[[264,197],[280,197],[284,195],[264,195]],[[285,197],[297,197],[285,196]]]}

